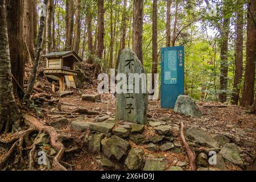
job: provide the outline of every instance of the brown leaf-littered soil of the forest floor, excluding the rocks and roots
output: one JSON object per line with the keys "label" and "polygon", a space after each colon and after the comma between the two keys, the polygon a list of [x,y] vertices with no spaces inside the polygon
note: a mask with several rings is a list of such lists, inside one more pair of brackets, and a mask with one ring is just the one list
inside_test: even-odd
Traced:
{"label": "brown leaf-littered soil of the forest floor, excluding the rocks and roots", "polygon": [[[51,92],[51,85],[42,82],[47,92]],[[97,111],[101,115],[115,115],[115,97],[113,94],[102,94],[100,102],[89,102],[82,101],[81,95],[86,94],[97,94],[97,81],[94,84],[85,85],[83,89],[76,89],[75,92],[70,96],[59,97],[59,93],[52,93],[54,98],[59,98],[58,104],[49,104],[44,102],[40,106],[36,106],[35,111],[26,111],[27,113],[34,115],[40,122],[49,123],[55,121],[57,118],[65,116],[65,114],[57,114],[58,112],[70,113],[73,110],[79,108],[86,108],[91,111]],[[234,143],[240,147],[241,157],[244,162],[244,166],[234,166],[230,163],[226,164],[227,170],[249,170],[250,164],[253,161],[252,156],[255,155],[255,145],[251,142],[255,142],[256,138],[256,115],[250,114],[247,108],[224,105],[216,102],[197,102],[203,116],[200,119],[185,117],[180,114],[174,113],[171,109],[162,109],[159,101],[148,102],[148,114],[149,120],[151,121],[162,121],[166,122],[167,125],[172,127],[180,126],[183,122],[185,130],[192,126],[199,126],[201,129],[207,131],[210,134],[224,134],[232,135]],[[40,110],[40,111],[39,111]],[[96,122],[97,115],[86,115],[86,122]],[[72,170],[86,170],[96,171],[102,170],[103,168],[98,164],[97,159],[99,156],[90,154],[84,146],[84,139],[88,133],[79,133],[72,130],[72,121],[75,121],[76,117],[68,118],[68,122],[59,128],[56,128],[57,133],[61,138],[68,138],[69,143],[64,143],[64,146],[71,148],[70,152],[65,152],[62,161],[71,164],[69,169]],[[145,126],[143,135],[146,137],[156,135],[155,130],[150,126]],[[8,135],[0,136],[7,138]],[[249,142],[248,142],[249,141]],[[175,142],[181,143],[179,131],[176,133]],[[181,153],[175,154],[172,151],[165,152],[152,152],[146,149],[146,145],[138,145],[131,142],[129,143],[132,147],[141,148],[144,151],[144,156],[154,154],[166,158],[168,160],[168,167],[176,166],[179,162],[185,162],[187,165],[183,166],[184,170],[189,170],[189,159],[185,148],[181,147]],[[249,143],[249,144],[248,144]],[[47,146],[46,146],[47,147]],[[0,146],[0,159],[6,154],[6,150]],[[39,170],[46,170],[47,168],[39,167]],[[120,167],[119,169],[124,169]]]}

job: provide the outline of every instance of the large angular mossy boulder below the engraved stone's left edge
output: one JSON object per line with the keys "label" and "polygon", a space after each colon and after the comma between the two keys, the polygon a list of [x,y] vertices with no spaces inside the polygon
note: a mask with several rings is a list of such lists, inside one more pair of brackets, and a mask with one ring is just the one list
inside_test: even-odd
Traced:
{"label": "large angular mossy boulder below the engraved stone's left edge", "polygon": [[130,144],[115,135],[106,140],[102,153],[108,159],[121,160],[128,152]]}

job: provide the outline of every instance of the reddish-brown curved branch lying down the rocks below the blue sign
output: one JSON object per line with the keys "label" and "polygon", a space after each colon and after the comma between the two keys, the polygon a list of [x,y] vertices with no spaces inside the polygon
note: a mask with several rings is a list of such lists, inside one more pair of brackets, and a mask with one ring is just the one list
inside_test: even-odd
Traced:
{"label": "reddish-brown curved branch lying down the rocks below the blue sign", "polygon": [[191,167],[192,171],[196,171],[196,154],[191,150],[191,148],[188,146],[188,143],[186,142],[185,135],[184,135],[184,124],[181,122],[181,129],[180,129],[180,137],[184,144],[185,149],[187,150],[188,154],[188,160],[189,160],[189,166]]}

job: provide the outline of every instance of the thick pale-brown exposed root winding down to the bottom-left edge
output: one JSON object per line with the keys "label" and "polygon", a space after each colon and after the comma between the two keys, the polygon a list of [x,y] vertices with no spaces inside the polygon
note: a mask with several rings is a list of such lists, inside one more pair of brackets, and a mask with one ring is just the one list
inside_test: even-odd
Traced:
{"label": "thick pale-brown exposed root winding down to the bottom-left edge", "polygon": [[60,160],[64,154],[65,147],[59,141],[58,134],[53,129],[53,127],[43,125],[42,122],[39,122],[38,119],[36,119],[32,115],[24,114],[24,117],[28,125],[30,125],[31,127],[35,127],[39,131],[45,131],[46,133],[48,133],[52,147],[58,150],[57,155],[55,156],[55,158],[53,158],[53,167],[55,167],[55,169],[59,171],[67,171],[67,169],[60,164]]}

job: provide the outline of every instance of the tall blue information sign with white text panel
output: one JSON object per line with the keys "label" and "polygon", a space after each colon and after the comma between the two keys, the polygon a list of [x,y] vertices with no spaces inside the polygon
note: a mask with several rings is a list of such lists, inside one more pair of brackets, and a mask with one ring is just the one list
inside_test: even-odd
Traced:
{"label": "tall blue information sign with white text panel", "polygon": [[161,49],[161,106],[174,109],[184,94],[184,46]]}

